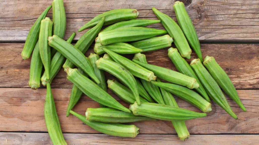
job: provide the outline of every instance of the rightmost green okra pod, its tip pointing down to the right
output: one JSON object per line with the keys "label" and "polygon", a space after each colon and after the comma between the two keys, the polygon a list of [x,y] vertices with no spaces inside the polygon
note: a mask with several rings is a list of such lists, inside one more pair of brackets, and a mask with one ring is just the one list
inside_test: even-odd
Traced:
{"label": "rightmost green okra pod, its tip pointing down to the right", "polygon": [[246,108],[242,104],[238,93],[236,92],[235,86],[229,79],[226,72],[219,66],[214,57],[207,56],[204,59],[203,65],[207,68],[208,72],[214,78],[214,80],[218,83],[218,85],[222,88],[222,90],[233,99],[240,108],[246,112]]}

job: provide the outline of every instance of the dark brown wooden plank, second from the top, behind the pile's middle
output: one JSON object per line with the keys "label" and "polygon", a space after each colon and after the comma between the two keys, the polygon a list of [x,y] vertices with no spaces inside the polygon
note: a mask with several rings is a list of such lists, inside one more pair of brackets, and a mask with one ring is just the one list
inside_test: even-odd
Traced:
{"label": "dark brown wooden plank, second from the top, behind the pile's middle", "polygon": [[[202,44],[201,46],[203,57],[206,55],[215,57],[236,88],[259,88],[259,44]],[[0,87],[29,87],[30,60],[22,60],[20,56],[22,49],[23,43],[0,43],[0,56],[3,56],[0,61]],[[86,56],[90,52],[92,48]],[[176,70],[167,56],[167,49],[144,54],[147,55],[149,63]],[[127,57],[132,59],[133,55]],[[195,57],[193,53],[192,58]],[[106,76],[111,78],[108,73]],[[63,69],[53,80],[52,87],[72,87]]]}

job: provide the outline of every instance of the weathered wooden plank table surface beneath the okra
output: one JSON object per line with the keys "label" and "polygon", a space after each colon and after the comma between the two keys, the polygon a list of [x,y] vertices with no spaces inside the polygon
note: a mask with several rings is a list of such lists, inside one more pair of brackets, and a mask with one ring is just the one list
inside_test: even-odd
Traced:
{"label": "weathered wooden plank table surface beneath the okra", "polygon": [[[46,88],[29,88],[30,60],[22,60],[20,56],[28,31],[51,2],[0,1],[0,144],[51,144],[43,113]],[[177,138],[168,121],[133,123],[140,127],[136,138],[100,134],[73,115],[65,116],[72,84],[66,79],[66,73],[60,70],[52,88],[68,144],[259,144],[259,1],[184,2],[199,35],[203,57],[215,57],[238,89],[247,112],[227,97],[239,117],[235,120],[212,103],[212,111],[207,117],[186,121],[191,136],[185,142]],[[173,3],[172,0],[64,0],[67,13],[65,39],[96,15],[112,9],[135,8],[139,11],[139,18],[157,19],[151,10],[156,7],[176,20]],[[48,16],[52,17],[52,11]],[[149,27],[163,29],[161,24]],[[77,33],[75,40],[85,32]],[[92,49],[86,55],[90,52]],[[167,57],[167,49],[145,54],[149,63],[175,70]],[[196,58],[194,53],[193,58]],[[181,99],[176,100],[180,107],[199,111]],[[74,111],[84,114],[88,107],[99,106],[83,96]]]}

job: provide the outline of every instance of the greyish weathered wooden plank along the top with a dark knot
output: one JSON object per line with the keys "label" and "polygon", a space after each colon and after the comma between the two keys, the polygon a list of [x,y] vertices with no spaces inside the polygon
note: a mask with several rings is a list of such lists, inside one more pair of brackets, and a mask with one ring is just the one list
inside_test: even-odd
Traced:
{"label": "greyish weathered wooden plank along the top with a dark knot", "polygon": [[[52,1],[1,1],[0,41],[25,41],[28,31],[41,12]],[[258,1],[184,1],[203,42],[258,42]],[[176,20],[172,10],[174,0],[65,0],[67,31],[65,39],[96,15],[119,8],[139,10],[139,18],[157,19],[151,8],[156,7]],[[190,5],[189,5],[190,4]],[[11,6],[10,6],[11,5]],[[52,17],[52,11],[48,17]],[[163,29],[161,24],[151,26]],[[78,33],[75,39],[82,34]]]}

